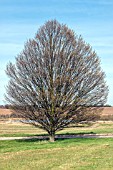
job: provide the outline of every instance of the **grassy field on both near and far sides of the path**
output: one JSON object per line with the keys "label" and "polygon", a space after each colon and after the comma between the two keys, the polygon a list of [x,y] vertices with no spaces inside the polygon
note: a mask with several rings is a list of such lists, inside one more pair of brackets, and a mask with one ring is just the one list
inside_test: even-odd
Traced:
{"label": "grassy field on both near and far sides of the path", "polygon": [[[113,122],[65,129],[60,134],[112,133]],[[0,123],[1,136],[30,136],[44,131],[24,124]],[[113,138],[0,141],[0,170],[111,170]]]}

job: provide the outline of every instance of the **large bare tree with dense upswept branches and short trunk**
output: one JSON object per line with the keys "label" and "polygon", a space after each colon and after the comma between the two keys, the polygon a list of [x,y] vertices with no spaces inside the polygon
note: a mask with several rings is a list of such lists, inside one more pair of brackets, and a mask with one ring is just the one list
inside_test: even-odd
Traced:
{"label": "large bare tree with dense upswept branches and short trunk", "polygon": [[6,73],[7,101],[28,123],[46,130],[50,141],[71,123],[95,120],[108,94],[95,51],[56,20],[38,30]]}

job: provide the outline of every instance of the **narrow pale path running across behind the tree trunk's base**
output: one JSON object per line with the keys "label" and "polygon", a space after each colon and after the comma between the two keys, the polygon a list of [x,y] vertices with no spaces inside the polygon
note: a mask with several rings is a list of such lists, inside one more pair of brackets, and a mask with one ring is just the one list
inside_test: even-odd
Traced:
{"label": "narrow pale path running across behind the tree trunk's base", "polygon": [[[31,137],[0,137],[0,140],[29,140],[29,139],[48,139],[48,136],[31,136]],[[81,134],[81,135],[56,135],[56,139],[71,138],[113,138],[113,134]]]}

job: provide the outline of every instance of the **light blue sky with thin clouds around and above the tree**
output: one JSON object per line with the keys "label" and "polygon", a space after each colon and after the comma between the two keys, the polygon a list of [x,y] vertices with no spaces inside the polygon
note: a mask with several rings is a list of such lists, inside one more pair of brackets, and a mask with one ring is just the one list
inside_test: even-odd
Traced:
{"label": "light blue sky with thin clouds around and above the tree", "polygon": [[0,0],[0,104],[6,64],[51,19],[67,24],[97,52],[109,86],[107,103],[113,105],[113,0]]}

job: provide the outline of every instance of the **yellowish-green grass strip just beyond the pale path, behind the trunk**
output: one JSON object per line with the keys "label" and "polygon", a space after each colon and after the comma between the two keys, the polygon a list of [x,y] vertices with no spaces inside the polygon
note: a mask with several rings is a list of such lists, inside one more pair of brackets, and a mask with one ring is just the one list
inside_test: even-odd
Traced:
{"label": "yellowish-green grass strip just beyond the pale path, behind the trunk", "polygon": [[[112,121],[99,121],[93,124],[79,125],[78,127],[65,128],[57,134],[113,134]],[[44,130],[23,123],[0,123],[0,137],[19,137],[47,134]]]}

